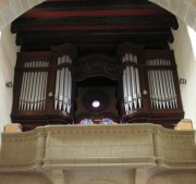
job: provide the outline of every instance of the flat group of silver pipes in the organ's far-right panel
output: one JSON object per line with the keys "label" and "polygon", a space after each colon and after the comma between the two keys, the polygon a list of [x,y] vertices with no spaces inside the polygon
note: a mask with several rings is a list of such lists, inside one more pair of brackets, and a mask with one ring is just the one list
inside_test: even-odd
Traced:
{"label": "flat group of silver pipes in the organ's far-right panel", "polygon": [[[169,60],[148,60],[149,66],[170,66]],[[154,109],[177,108],[176,94],[172,71],[170,69],[149,69],[148,81],[150,88],[150,100]]]}

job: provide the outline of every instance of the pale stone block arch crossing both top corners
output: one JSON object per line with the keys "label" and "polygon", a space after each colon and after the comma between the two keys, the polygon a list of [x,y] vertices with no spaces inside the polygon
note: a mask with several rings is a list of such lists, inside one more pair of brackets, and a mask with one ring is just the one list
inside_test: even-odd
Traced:
{"label": "pale stone block arch crossing both top corners", "polygon": [[[46,0],[1,0],[0,1],[0,30],[27,10]],[[195,0],[149,0],[162,7],[181,19],[196,30],[196,1]]]}

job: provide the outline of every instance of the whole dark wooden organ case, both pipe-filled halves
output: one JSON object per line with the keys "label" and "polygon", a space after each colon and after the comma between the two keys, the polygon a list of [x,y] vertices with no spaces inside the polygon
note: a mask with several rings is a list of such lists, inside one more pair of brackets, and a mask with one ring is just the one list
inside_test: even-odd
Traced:
{"label": "whole dark wooden organ case, both pipe-filled halves", "polygon": [[[85,61],[79,65],[75,60],[76,50],[71,45],[52,47],[46,52],[20,52],[12,121],[21,123],[24,131],[38,125],[72,124],[76,107],[75,83],[84,77],[81,70],[86,75],[98,76],[100,65],[110,68],[100,61],[99,71],[96,71],[87,60],[85,69]],[[159,123],[173,127],[184,115],[173,51],[145,50],[123,44],[118,49],[118,57],[113,57],[113,61],[117,60],[112,70],[119,84],[118,123]],[[112,72],[108,75],[111,78]]]}

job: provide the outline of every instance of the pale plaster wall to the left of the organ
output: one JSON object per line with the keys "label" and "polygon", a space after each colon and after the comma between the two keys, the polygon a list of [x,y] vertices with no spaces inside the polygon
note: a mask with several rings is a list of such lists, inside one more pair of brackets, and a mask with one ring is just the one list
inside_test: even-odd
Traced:
{"label": "pale plaster wall to the left of the organ", "polygon": [[5,87],[7,82],[13,82],[14,66],[16,61],[15,35],[10,33],[10,26],[1,32],[0,38],[0,132],[3,126],[11,122],[13,88]]}

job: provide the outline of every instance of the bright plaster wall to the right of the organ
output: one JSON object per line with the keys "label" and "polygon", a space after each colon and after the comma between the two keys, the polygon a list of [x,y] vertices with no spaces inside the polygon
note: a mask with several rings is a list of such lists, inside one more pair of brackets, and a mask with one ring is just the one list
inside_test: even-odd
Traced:
{"label": "bright plaster wall to the right of the organ", "polygon": [[192,119],[194,128],[196,128],[196,54],[194,56],[186,24],[177,21],[180,26],[177,30],[173,32],[174,42],[171,45],[171,49],[174,50],[179,78],[186,78],[186,84],[181,85],[185,119]]}

